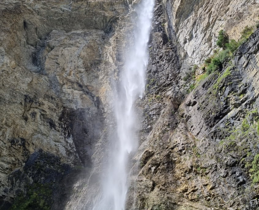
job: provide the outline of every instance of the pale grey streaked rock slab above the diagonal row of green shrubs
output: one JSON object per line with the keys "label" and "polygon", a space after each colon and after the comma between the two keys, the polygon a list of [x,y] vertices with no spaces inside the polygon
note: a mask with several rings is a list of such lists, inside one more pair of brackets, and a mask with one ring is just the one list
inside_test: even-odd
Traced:
{"label": "pale grey streaked rock slab above the diagonal row of green shrubs", "polygon": [[216,48],[216,37],[225,29],[230,38],[240,38],[246,25],[258,20],[258,3],[250,1],[164,1],[168,33],[180,45],[179,54],[200,63]]}

